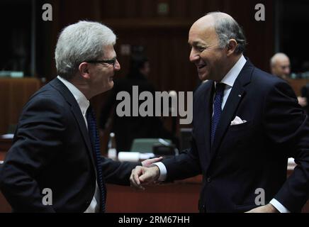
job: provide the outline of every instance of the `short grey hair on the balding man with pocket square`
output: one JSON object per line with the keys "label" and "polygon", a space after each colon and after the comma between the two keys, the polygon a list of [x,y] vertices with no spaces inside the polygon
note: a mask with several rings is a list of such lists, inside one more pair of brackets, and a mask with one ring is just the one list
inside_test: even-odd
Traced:
{"label": "short grey hair on the balding man with pocket square", "polygon": [[231,16],[222,16],[221,12],[210,12],[206,15],[215,19],[215,32],[218,35],[220,48],[225,48],[230,39],[237,41],[235,53],[240,54],[245,51],[247,39],[240,25]]}

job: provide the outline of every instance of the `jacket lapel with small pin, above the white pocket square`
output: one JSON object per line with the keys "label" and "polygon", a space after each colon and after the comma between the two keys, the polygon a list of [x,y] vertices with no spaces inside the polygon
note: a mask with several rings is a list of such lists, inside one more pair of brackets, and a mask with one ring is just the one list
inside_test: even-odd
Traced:
{"label": "jacket lapel with small pin, above the white pocket square", "polygon": [[235,80],[230,95],[228,96],[225,106],[223,108],[223,112],[221,114],[217,129],[215,131],[213,147],[210,150],[210,160],[215,157],[215,154],[217,153],[220,143],[223,140],[225,132],[230,126],[230,122],[233,120],[232,118],[235,117],[235,113],[237,111],[237,107],[240,104],[240,101],[242,101],[242,99],[244,99],[245,97],[245,86],[251,81],[253,69],[254,66],[251,62],[249,62],[249,60],[247,60],[245,66],[242,68],[240,74]]}

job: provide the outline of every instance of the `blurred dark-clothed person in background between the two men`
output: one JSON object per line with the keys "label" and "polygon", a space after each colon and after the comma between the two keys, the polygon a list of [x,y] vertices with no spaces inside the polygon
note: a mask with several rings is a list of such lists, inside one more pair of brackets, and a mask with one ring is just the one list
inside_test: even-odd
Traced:
{"label": "blurred dark-clothed person in background between the two men", "polygon": [[[111,132],[115,133],[118,152],[129,151],[135,138],[173,138],[172,133],[164,128],[159,117],[132,116],[132,108],[131,116],[119,117],[116,113],[116,106],[121,102],[116,100],[118,92],[128,92],[132,100],[133,86],[138,86],[138,95],[145,91],[154,95],[154,86],[147,79],[150,73],[150,62],[140,49],[140,47],[133,48],[128,74],[125,78],[115,80],[115,85],[101,109],[101,133],[106,133],[111,124]],[[139,106],[142,102],[139,101]]]}

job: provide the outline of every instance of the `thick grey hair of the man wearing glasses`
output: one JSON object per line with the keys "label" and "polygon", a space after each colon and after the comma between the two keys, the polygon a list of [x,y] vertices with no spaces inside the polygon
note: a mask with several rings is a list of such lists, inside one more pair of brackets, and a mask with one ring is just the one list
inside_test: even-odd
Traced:
{"label": "thick grey hair of the man wearing glasses", "polygon": [[80,63],[98,60],[104,55],[104,47],[115,43],[116,35],[101,23],[79,21],[67,26],[60,33],[55,50],[57,73],[72,79]]}

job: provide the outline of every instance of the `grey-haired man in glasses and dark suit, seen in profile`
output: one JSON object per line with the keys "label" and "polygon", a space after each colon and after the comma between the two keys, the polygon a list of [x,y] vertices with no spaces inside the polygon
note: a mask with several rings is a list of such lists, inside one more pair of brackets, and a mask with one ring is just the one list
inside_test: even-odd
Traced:
{"label": "grey-haired man in glasses and dark suit, seen in profile", "polygon": [[120,70],[115,43],[113,31],[95,22],[80,21],[60,34],[58,77],[24,106],[1,169],[1,191],[13,211],[104,212],[105,182],[130,184],[140,163],[101,157],[89,106],[91,97],[113,87]]}

